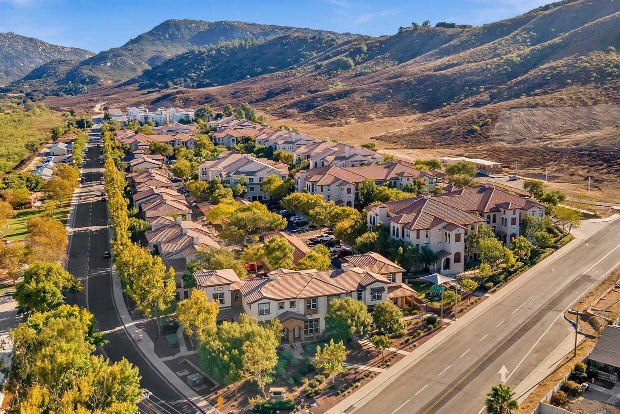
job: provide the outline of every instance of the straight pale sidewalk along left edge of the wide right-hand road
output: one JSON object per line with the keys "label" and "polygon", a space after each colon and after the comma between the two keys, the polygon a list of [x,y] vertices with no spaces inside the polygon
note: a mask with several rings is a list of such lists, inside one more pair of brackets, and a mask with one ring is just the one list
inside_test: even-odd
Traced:
{"label": "straight pale sidewalk along left edge of the wide right-hand road", "polygon": [[[564,254],[569,254],[573,250],[573,248],[579,245],[579,243],[583,240],[583,235],[577,235],[575,237],[575,240],[570,241],[570,243],[564,246],[564,248],[553,254],[551,258],[553,259],[553,261],[562,258]],[[461,328],[467,325],[467,323],[469,323],[471,320],[478,317],[478,315],[488,310],[491,305],[495,304],[495,302],[502,300],[503,297],[510,294],[512,290],[516,289],[518,286],[521,286],[521,284],[528,281],[528,279],[530,279],[531,277],[534,277],[537,269],[541,266],[546,266],[548,263],[549,261],[543,260],[541,263],[538,263],[532,268],[529,268],[519,277],[511,281],[507,286],[498,290],[497,293],[491,295],[489,299],[480,302],[480,304],[474,307],[471,311],[465,313],[463,317],[459,318],[456,321],[450,321],[443,330],[439,331],[435,336],[430,338],[430,340],[426,341],[418,348],[415,348],[414,351],[412,351],[409,355],[396,362],[396,364],[394,364],[386,372],[379,374],[379,376],[375,377],[373,380],[371,380],[371,382],[366,384],[360,390],[350,395],[350,397],[345,398],[345,400],[341,401],[333,408],[330,408],[330,410],[327,411],[327,414],[340,414],[348,412],[348,410],[350,410],[350,408],[353,406],[361,407],[362,405],[370,402],[382,390],[386,389],[387,387],[389,387],[390,384],[392,384],[392,382],[397,380],[402,372],[407,371],[408,369],[410,369],[410,367],[414,366],[420,359],[422,359],[426,354],[430,353],[430,351],[432,351],[436,346],[439,346],[440,344],[449,340],[451,336],[453,336]]]}

